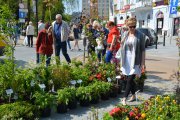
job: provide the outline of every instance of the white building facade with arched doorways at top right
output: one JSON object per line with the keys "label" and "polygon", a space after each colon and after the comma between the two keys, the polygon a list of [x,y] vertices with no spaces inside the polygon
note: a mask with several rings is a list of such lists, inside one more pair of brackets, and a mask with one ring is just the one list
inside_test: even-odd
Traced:
{"label": "white building facade with arched doorways at top right", "polygon": [[[171,0],[170,0],[171,1]],[[169,0],[111,0],[114,14],[110,20],[117,20],[122,26],[128,17],[136,17],[137,27],[154,29],[159,35],[177,35],[180,28],[180,13],[170,15]],[[178,0],[180,5],[180,0]]]}

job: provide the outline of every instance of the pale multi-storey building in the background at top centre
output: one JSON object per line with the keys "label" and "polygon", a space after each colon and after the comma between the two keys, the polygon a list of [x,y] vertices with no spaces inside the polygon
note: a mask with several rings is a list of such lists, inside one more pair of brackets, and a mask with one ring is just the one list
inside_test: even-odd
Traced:
{"label": "pale multi-storey building in the background at top centre", "polygon": [[82,0],[82,14],[86,17],[109,19],[109,0]]}

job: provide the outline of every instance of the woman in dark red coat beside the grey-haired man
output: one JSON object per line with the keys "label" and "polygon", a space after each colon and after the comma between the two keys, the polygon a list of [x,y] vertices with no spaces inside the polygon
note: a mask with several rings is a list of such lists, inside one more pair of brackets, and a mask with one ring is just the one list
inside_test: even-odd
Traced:
{"label": "woman in dark red coat beside the grey-haired man", "polygon": [[45,29],[38,33],[36,53],[37,63],[46,62],[46,66],[50,64],[51,55],[53,54],[52,26],[50,26],[50,23],[46,23]]}

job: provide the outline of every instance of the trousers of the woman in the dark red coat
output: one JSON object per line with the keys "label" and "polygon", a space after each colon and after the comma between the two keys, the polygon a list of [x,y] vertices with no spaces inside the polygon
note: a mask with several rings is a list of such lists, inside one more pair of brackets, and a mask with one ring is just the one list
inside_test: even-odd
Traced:
{"label": "trousers of the woman in the dark red coat", "polygon": [[46,67],[50,65],[51,55],[38,54],[37,53],[37,63],[43,63],[46,61]]}

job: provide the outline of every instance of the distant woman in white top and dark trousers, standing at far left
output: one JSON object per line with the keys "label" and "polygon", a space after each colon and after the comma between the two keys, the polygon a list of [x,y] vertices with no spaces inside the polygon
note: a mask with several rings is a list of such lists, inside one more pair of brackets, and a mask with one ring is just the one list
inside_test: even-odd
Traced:
{"label": "distant woman in white top and dark trousers, standing at far left", "polygon": [[32,25],[32,22],[29,22],[29,25],[26,28],[26,35],[28,38],[28,46],[33,47],[33,36],[34,36],[34,26]]}

